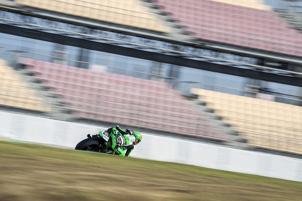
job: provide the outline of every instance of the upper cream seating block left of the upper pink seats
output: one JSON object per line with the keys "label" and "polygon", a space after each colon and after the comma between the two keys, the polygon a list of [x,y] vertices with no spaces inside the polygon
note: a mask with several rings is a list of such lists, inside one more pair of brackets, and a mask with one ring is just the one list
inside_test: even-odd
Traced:
{"label": "upper cream seating block left of the upper pink seats", "polygon": [[169,32],[155,14],[139,0],[17,0],[22,5],[120,24]]}

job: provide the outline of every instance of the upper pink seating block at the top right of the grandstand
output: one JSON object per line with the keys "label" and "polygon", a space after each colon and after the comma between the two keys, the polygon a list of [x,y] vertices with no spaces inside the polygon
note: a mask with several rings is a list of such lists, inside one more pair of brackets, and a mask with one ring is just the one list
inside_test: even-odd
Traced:
{"label": "upper pink seating block at the top right of the grandstand", "polygon": [[197,38],[302,56],[302,35],[272,11],[210,0],[154,3]]}

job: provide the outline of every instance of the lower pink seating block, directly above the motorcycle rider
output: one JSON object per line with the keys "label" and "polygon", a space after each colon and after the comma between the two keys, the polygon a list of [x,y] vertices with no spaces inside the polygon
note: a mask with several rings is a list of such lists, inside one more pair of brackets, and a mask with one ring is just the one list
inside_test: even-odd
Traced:
{"label": "lower pink seating block, directly above the motorcycle rider", "polygon": [[170,84],[27,58],[20,63],[61,96],[76,118],[222,141],[230,138],[184,102]]}

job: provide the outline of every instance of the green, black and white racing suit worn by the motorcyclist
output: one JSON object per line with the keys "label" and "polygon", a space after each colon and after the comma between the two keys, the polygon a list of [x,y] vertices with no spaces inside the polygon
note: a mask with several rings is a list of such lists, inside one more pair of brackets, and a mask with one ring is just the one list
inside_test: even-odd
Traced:
{"label": "green, black and white racing suit worn by the motorcyclist", "polygon": [[130,135],[128,130],[125,131],[119,126],[116,126],[115,128],[111,127],[107,132],[109,133],[110,138],[106,143],[106,146],[111,147],[112,149],[111,151],[108,150],[107,153],[129,157],[134,148],[133,142],[135,142],[135,137]]}

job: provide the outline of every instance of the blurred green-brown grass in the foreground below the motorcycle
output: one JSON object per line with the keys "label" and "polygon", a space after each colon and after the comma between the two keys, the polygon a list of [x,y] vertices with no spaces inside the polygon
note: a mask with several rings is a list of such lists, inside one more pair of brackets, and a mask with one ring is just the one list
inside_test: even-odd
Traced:
{"label": "blurred green-brown grass in the foreground below the motorcycle", "polygon": [[1,201],[301,199],[300,182],[0,142]]}

